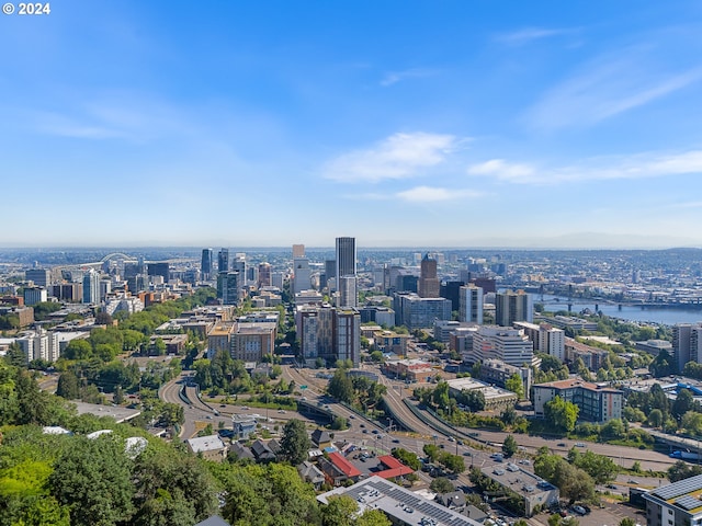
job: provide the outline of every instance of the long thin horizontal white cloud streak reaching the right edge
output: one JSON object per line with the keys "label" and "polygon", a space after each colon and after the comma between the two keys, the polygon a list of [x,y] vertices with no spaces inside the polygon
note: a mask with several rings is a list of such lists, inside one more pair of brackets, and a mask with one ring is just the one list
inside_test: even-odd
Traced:
{"label": "long thin horizontal white cloud streak reaching the right edge", "polygon": [[676,155],[642,153],[630,157],[587,159],[577,164],[539,168],[492,159],[468,167],[467,173],[523,184],[559,184],[578,181],[648,179],[702,173],[702,150]]}

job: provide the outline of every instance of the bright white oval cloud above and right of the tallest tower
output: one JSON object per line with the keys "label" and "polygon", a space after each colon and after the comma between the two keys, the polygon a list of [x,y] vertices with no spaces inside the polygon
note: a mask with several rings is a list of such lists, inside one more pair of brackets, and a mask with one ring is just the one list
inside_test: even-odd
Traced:
{"label": "bright white oval cloud above and right of the tallest tower", "polygon": [[452,135],[395,134],[373,148],[339,156],[327,163],[324,174],[347,183],[407,179],[442,163],[457,142]]}

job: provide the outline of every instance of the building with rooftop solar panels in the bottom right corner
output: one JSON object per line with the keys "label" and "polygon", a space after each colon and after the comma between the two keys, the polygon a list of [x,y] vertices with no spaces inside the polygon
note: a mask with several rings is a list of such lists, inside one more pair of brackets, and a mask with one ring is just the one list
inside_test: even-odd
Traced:
{"label": "building with rooftop solar panels in the bottom right corner", "polygon": [[702,524],[702,474],[663,485],[642,495],[648,526]]}

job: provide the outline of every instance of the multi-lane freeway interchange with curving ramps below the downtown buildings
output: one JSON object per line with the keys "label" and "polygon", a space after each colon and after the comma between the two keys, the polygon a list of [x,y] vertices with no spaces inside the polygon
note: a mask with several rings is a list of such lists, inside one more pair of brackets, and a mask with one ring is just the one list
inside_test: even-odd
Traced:
{"label": "multi-lane freeway interchange with curving ramps below the downtown buildings", "polygon": [[[301,391],[303,395],[298,397],[298,401],[308,410],[302,413],[288,411],[285,414],[274,410],[258,411],[265,411],[267,420],[278,423],[284,423],[291,418],[302,418],[308,422],[322,424],[329,422],[333,415],[341,416],[347,419],[350,427],[343,432],[337,432],[338,438],[343,437],[349,442],[385,451],[393,447],[403,447],[420,456],[424,444],[437,444],[449,453],[464,456],[466,465],[484,464],[490,453],[499,450],[509,434],[479,430],[478,436],[475,436],[474,430],[452,428],[428,411],[418,409],[417,403],[410,400],[411,391],[404,382],[387,378],[377,370],[377,366],[364,365],[363,367],[375,369],[373,371],[377,374],[380,381],[387,387],[384,398],[386,408],[392,414],[393,424],[389,426],[371,421],[327,397],[325,395],[327,380],[318,378],[316,370],[299,369],[291,365],[283,366],[283,377],[287,381],[294,380],[298,386],[306,386]],[[207,423],[212,423],[215,430],[220,425],[229,428],[233,414],[251,414],[252,411],[242,405],[222,404],[219,407],[219,404],[204,403],[197,397],[197,389],[192,380],[192,373],[184,371],[159,390],[162,400],[184,407],[185,423],[180,433],[182,439],[194,436]],[[403,428],[407,432],[398,431]],[[520,446],[520,454],[524,456],[528,453],[535,453],[542,446],[547,446],[552,453],[565,456],[576,445],[575,441],[569,439],[551,439],[525,434],[512,436]],[[650,450],[593,443],[586,443],[586,447],[593,453],[612,458],[624,468],[631,468],[634,461],[638,461],[644,470],[664,471],[675,464],[675,459]]]}

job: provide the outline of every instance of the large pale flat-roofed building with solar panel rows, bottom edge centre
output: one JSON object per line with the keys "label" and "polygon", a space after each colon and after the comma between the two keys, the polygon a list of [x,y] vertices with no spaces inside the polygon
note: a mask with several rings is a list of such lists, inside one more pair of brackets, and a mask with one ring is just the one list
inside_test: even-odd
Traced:
{"label": "large pale flat-roofed building with solar panel rows, bottom edge centre", "polygon": [[438,502],[416,495],[409,490],[381,477],[370,477],[349,488],[337,488],[322,493],[317,500],[328,504],[335,495],[347,495],[359,505],[359,513],[380,510],[397,526],[480,526],[465,515],[449,510]]}

